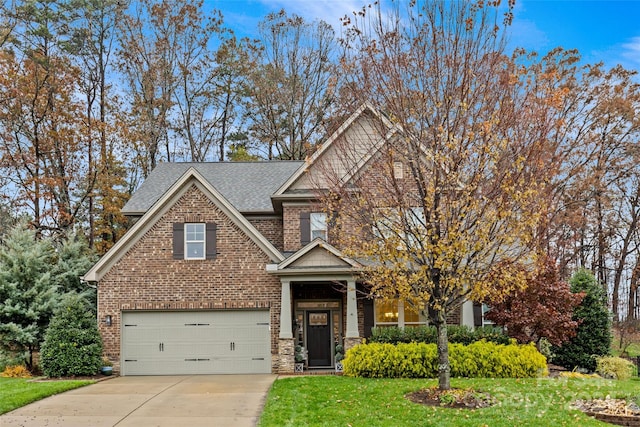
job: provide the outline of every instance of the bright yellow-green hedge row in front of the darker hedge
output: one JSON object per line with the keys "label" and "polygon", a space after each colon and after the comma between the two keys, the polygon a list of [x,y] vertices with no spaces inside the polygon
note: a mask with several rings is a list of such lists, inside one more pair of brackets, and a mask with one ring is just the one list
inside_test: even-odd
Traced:
{"label": "bright yellow-green hedge row in front of the darker hedge", "polygon": [[[344,374],[369,378],[436,378],[435,344],[368,343],[353,347],[343,360]],[[449,344],[452,377],[535,378],[547,374],[547,359],[534,344],[477,341]]]}

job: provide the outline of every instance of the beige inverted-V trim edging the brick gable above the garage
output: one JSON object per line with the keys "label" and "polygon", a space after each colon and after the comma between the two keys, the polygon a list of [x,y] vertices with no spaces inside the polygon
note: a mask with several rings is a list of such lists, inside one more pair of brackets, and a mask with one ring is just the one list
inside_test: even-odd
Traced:
{"label": "beige inverted-V trim edging the brick gable above the garage", "polygon": [[192,185],[198,188],[242,230],[272,262],[284,256],[242,214],[194,168],[189,168],[124,236],[84,275],[87,281],[99,281],[135,243],[166,213]]}

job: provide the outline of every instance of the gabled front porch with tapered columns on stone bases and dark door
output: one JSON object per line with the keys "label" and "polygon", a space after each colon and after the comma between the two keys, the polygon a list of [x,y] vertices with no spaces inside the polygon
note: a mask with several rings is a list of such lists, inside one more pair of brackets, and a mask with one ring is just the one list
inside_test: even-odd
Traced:
{"label": "gabled front porch with tapered columns on stone bases and dark door", "polygon": [[344,352],[361,342],[355,279],[360,267],[319,238],[267,266],[282,286],[278,372],[295,371],[296,346],[304,348],[307,369],[326,370],[334,367],[336,346]]}

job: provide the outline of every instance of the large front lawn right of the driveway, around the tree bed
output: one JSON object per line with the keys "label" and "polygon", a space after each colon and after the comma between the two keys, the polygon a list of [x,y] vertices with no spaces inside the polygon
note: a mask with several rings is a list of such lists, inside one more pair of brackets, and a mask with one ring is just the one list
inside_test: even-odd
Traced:
{"label": "large front lawn right of the driveway, around the tree bed", "polygon": [[277,380],[260,427],[270,426],[606,426],[569,408],[576,399],[636,397],[640,379],[452,379],[498,403],[468,410],[428,407],[404,396],[435,380],[301,376]]}

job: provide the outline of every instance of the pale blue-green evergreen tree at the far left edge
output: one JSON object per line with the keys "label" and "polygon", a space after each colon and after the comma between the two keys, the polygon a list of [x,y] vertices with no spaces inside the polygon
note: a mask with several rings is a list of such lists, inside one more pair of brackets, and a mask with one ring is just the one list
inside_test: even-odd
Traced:
{"label": "pale blue-green evergreen tree at the far left edge", "polygon": [[53,255],[50,241],[36,239],[25,223],[14,227],[0,246],[0,348],[28,352],[29,369],[60,302]]}

